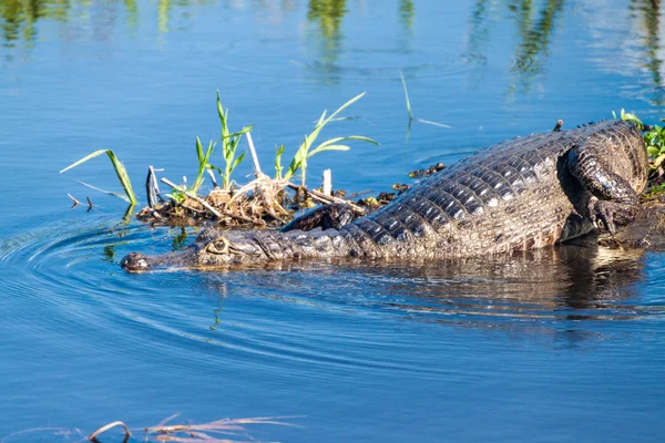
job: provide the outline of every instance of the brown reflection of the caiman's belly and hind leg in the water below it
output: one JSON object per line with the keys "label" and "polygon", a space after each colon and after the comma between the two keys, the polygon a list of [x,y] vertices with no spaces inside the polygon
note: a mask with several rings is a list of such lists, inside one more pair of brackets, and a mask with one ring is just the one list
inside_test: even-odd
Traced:
{"label": "brown reflection of the caiman's belly and hind leg in the water below it", "polygon": [[[409,311],[511,317],[597,319],[624,317],[631,287],[642,278],[643,251],[560,246],[513,257],[387,266],[390,293]],[[397,279],[395,279],[397,278]],[[386,288],[383,288],[386,290]]]}

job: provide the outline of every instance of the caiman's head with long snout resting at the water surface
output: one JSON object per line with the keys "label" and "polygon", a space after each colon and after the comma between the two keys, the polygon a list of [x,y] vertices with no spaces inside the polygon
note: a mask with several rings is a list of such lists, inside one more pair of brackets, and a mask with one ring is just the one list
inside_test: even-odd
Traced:
{"label": "caiman's head with long snout resting at the water surface", "polygon": [[253,231],[221,233],[206,228],[183,250],[156,256],[130,253],[120,266],[130,272],[167,267],[207,269],[249,265],[264,261],[266,257]]}

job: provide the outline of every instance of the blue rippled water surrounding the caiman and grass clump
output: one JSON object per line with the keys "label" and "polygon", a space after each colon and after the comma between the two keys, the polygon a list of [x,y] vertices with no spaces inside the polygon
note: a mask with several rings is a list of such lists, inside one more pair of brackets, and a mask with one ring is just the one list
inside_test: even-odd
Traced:
{"label": "blue rippled water surrounding the caiman and grass clump", "polygon": [[[324,109],[367,91],[325,136],[381,146],[321,154],[308,171],[330,167],[350,192],[559,119],[625,107],[657,122],[658,6],[0,2],[0,439],[73,442],[181,412],[297,415],[236,440],[661,441],[663,254],[130,275],[124,254],[172,250],[182,230],[123,220],[122,200],[75,182],[117,190],[105,157],[58,174],[110,147],[142,200],[149,165],[192,181],[195,136],[218,134],[216,90],[232,128],[255,124],[266,171],[276,146],[286,163]],[[415,116],[451,128],[408,130],[400,71]],[[68,193],[95,208],[70,209]]]}

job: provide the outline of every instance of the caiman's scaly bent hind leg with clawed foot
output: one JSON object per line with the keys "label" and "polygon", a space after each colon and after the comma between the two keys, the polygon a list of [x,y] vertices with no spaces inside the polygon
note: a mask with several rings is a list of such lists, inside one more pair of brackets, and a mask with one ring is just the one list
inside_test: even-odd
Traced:
{"label": "caiman's scaly bent hind leg with clawed foot", "polygon": [[[598,226],[598,220],[611,234],[616,225],[633,222],[640,209],[637,193],[621,175],[612,171],[610,151],[600,137],[590,137],[569,152],[569,171],[591,194],[585,216]],[[606,143],[606,142],[605,142]]]}

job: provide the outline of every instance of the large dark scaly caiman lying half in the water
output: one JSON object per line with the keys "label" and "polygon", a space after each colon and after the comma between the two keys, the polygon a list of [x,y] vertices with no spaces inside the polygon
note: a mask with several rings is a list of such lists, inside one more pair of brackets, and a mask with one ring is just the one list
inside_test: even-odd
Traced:
{"label": "large dark scaly caiman lying half in the water", "polygon": [[205,269],[289,259],[438,260],[530,250],[592,230],[615,233],[635,218],[646,181],[640,130],[604,121],[479,151],[366,217],[351,220],[344,207],[332,205],[280,230],[207,228],[181,251],[131,253],[121,265],[130,271]]}

